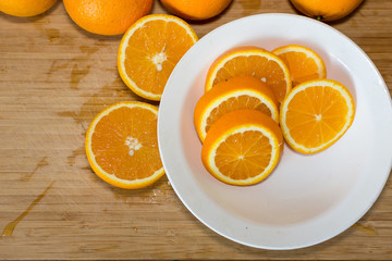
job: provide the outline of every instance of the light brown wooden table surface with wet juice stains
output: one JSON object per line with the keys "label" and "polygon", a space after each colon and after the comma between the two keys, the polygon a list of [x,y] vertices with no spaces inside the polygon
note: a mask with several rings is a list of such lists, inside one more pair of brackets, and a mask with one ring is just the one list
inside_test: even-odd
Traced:
{"label": "light brown wooden table surface with wet juice stains", "polygon": [[[164,13],[156,1],[152,13]],[[296,13],[287,0],[234,0],[191,23],[201,38],[238,17]],[[366,0],[331,25],[375,62],[392,90],[392,1]],[[90,170],[84,135],[109,104],[142,100],[121,80],[121,36],[86,33],[59,1],[29,18],[0,14],[0,259],[392,259],[392,182],[360,221],[326,243],[254,249],[203,225],[168,178],[114,188]]]}

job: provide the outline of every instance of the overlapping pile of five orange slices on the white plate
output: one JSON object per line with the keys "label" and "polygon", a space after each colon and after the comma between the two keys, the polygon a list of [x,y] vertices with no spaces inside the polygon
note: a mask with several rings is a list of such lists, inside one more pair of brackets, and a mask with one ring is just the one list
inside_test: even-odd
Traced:
{"label": "overlapping pile of five orange slices on the white plate", "polygon": [[226,184],[253,185],[278,165],[283,140],[302,153],[334,144],[355,105],[344,85],[326,77],[321,57],[299,45],[271,52],[236,47],[218,57],[194,112],[207,171]]}

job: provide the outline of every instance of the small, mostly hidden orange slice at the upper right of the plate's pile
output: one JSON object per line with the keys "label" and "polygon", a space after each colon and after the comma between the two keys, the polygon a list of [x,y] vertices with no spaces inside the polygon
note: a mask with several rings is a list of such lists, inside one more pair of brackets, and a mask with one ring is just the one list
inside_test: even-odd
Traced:
{"label": "small, mostly hidden orange slice at the upper right of the plate's pile", "polygon": [[310,79],[326,78],[326,64],[314,50],[298,45],[289,45],[272,51],[287,65],[292,86]]}

